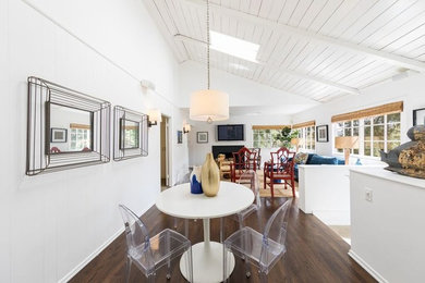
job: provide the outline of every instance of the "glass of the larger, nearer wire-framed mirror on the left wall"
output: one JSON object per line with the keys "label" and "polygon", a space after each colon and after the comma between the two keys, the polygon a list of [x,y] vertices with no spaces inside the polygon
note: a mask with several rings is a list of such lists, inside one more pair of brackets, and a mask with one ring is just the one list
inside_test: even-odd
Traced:
{"label": "glass of the larger, nearer wire-framed mirror on the left wall", "polygon": [[93,150],[93,112],[50,103],[50,153]]}

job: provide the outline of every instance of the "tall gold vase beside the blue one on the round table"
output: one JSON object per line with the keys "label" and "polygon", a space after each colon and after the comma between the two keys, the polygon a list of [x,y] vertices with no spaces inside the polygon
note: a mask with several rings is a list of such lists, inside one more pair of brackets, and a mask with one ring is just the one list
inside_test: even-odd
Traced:
{"label": "tall gold vase beside the blue one on the round table", "polygon": [[207,197],[217,196],[220,188],[220,170],[214,161],[212,153],[207,153],[201,171],[201,184]]}

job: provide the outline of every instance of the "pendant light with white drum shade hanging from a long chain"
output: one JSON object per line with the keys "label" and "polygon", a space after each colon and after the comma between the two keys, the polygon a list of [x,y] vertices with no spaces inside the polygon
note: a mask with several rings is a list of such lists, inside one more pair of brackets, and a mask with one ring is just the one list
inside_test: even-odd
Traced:
{"label": "pendant light with white drum shade hanging from a long chain", "polygon": [[196,121],[223,121],[229,119],[229,95],[209,89],[209,0],[207,0],[207,89],[192,94],[190,118]]}

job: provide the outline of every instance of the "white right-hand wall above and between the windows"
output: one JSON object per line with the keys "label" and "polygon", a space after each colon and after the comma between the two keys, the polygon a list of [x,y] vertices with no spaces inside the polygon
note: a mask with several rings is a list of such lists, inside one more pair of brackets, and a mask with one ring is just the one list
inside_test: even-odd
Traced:
{"label": "white right-hand wall above and between the windows", "polygon": [[316,143],[316,152],[319,155],[332,155],[333,133],[331,131],[330,119],[335,114],[365,109],[393,101],[404,101],[404,111],[401,114],[401,137],[402,142],[408,142],[405,135],[413,125],[413,109],[425,107],[425,75],[412,75],[411,77],[387,82],[380,85],[362,89],[361,95],[351,95],[338,99],[333,102],[321,104],[307,111],[293,115],[293,122],[305,122],[316,120],[316,125],[329,125],[329,143]]}

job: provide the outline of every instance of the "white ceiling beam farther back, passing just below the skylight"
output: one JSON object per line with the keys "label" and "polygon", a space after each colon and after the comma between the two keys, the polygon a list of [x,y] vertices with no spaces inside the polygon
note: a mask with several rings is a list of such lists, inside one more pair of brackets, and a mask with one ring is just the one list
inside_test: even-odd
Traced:
{"label": "white ceiling beam farther back, passing just below the skylight", "polygon": [[[207,42],[204,41],[204,40],[199,40],[197,38],[184,36],[184,35],[181,35],[181,34],[174,35],[174,39],[182,40],[182,41],[185,41],[185,42],[189,42],[189,44],[207,45]],[[220,52],[218,50],[215,50],[215,51]],[[233,56],[228,54],[228,53],[226,53],[226,54],[230,56],[230,57],[233,57]],[[234,57],[234,58],[238,58],[238,57]],[[238,59],[243,60],[241,58],[238,58]],[[245,61],[245,60],[243,60],[243,61]],[[264,66],[267,71],[286,73],[286,74],[289,74],[289,75],[292,75],[292,76],[296,76],[296,77],[302,78],[302,79],[307,79],[307,81],[312,81],[312,82],[315,82],[315,83],[318,83],[318,84],[330,86],[330,87],[337,88],[337,89],[342,90],[342,91],[348,93],[348,94],[360,95],[360,90],[357,88],[354,88],[354,87],[341,85],[341,84],[338,84],[338,83],[335,83],[335,82],[331,82],[331,81],[328,81],[328,79],[325,79],[325,78],[320,78],[320,77],[317,77],[317,76],[311,76],[311,75],[307,75],[307,74],[304,74],[304,73],[301,73],[301,72],[296,72],[296,71],[293,71],[293,70],[289,70],[289,69],[275,67],[275,66],[270,66],[270,65],[265,64],[265,63],[257,63],[257,64]]]}

